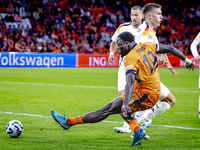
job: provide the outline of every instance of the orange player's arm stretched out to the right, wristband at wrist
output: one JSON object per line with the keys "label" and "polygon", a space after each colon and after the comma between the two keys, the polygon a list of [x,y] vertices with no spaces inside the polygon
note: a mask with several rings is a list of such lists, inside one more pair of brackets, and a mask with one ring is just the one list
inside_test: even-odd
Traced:
{"label": "orange player's arm stretched out to the right, wristband at wrist", "polygon": [[166,53],[170,53],[178,58],[180,58],[183,62],[186,68],[189,68],[194,70],[194,64],[192,63],[191,60],[189,60],[187,57],[185,57],[183,55],[183,53],[181,51],[179,51],[178,49],[176,49],[175,47],[171,46],[171,45],[165,45],[165,44],[159,44],[159,51],[156,52],[157,54],[166,54]]}

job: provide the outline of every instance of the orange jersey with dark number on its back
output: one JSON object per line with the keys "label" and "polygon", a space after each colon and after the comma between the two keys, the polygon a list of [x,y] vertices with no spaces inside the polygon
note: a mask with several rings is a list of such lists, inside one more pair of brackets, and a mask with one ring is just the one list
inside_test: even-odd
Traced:
{"label": "orange jersey with dark number on its back", "polygon": [[134,88],[148,95],[161,92],[156,49],[156,44],[139,43],[124,57],[126,74],[136,75]]}

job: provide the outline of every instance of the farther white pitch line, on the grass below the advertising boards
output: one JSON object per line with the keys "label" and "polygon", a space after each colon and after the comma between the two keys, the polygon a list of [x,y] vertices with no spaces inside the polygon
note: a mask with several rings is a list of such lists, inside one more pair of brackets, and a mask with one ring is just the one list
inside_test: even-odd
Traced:
{"label": "farther white pitch line, on the grass below the advertising boards", "polygon": [[[66,86],[66,87],[84,87],[84,88],[100,88],[100,89],[117,89],[117,87],[109,87],[109,86],[86,86],[86,85],[64,85],[64,84],[46,84],[46,83],[27,83],[27,82],[7,82],[7,81],[0,81],[0,83],[5,83],[5,84],[22,84],[22,85],[46,85],[46,86]],[[190,93],[200,93],[198,91],[199,88],[195,87],[168,87],[171,91],[173,92],[190,92]],[[189,90],[185,90],[189,89]],[[197,90],[197,91],[194,91]]]}

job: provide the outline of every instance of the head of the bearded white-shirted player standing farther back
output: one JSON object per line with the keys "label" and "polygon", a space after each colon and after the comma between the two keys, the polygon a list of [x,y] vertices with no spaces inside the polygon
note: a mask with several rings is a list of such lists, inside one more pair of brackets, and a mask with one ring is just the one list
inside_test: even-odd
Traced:
{"label": "head of the bearded white-shirted player standing farther back", "polygon": [[142,23],[144,15],[142,14],[141,6],[134,6],[131,8],[131,21],[134,28],[138,28]]}

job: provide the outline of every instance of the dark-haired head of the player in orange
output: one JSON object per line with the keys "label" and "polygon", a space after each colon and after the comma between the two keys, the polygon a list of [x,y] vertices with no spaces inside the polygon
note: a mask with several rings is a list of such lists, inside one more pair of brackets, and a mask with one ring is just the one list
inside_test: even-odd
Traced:
{"label": "dark-haired head of the player in orange", "polygon": [[127,55],[135,44],[135,37],[130,32],[122,32],[117,37],[117,50],[123,57]]}

